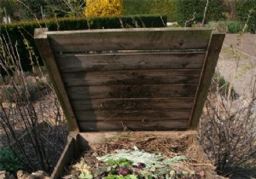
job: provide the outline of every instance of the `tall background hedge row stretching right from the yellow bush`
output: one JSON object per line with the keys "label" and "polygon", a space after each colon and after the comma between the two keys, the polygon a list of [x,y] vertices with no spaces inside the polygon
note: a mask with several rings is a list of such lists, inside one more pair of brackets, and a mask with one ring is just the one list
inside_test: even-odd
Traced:
{"label": "tall background hedge row stretching right from the yellow bush", "polygon": [[[193,26],[204,19],[207,0],[123,0],[124,14],[164,13],[168,21],[178,26]],[[248,15],[250,15],[247,21]],[[204,24],[211,21],[225,23],[230,32],[238,32],[247,23],[248,31],[255,33],[256,0],[209,0]],[[237,23],[236,23],[237,22]]]}

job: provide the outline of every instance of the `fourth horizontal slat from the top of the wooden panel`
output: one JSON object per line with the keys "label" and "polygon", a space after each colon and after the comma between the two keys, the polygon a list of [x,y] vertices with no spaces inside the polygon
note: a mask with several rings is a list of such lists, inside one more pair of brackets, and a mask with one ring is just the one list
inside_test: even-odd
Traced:
{"label": "fourth horizontal slat from the top of the wooden panel", "polygon": [[82,86],[69,87],[67,93],[70,100],[194,97],[196,87],[196,84]]}

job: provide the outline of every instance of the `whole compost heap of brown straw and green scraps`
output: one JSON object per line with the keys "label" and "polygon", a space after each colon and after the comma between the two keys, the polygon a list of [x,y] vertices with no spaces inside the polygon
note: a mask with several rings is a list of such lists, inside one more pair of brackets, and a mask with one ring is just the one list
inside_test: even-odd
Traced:
{"label": "whole compost heap of brown straw and green scraps", "polygon": [[83,153],[62,178],[218,178],[212,176],[214,167],[209,161],[198,155],[203,153],[195,143],[188,144],[186,135],[119,135]]}

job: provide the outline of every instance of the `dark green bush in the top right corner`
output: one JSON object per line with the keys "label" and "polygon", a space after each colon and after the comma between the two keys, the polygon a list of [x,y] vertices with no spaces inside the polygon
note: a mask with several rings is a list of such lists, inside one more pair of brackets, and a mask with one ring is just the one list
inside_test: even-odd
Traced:
{"label": "dark green bush in the top right corner", "polygon": [[243,24],[247,23],[250,32],[256,32],[255,0],[236,0],[236,16]]}

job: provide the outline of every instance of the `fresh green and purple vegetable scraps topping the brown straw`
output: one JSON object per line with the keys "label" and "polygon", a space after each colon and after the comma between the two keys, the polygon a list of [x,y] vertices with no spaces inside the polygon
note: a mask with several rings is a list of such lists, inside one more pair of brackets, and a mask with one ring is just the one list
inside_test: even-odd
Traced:
{"label": "fresh green and purple vegetable scraps topping the brown straw", "polygon": [[147,153],[134,147],[133,150],[115,150],[102,157],[96,157],[96,173],[90,171],[90,166],[84,159],[73,165],[77,176],[64,176],[63,178],[102,178],[102,179],[153,179],[153,178],[184,178],[195,176],[194,170],[177,170],[179,162],[187,160],[186,156],[176,156],[168,159],[160,153]]}

